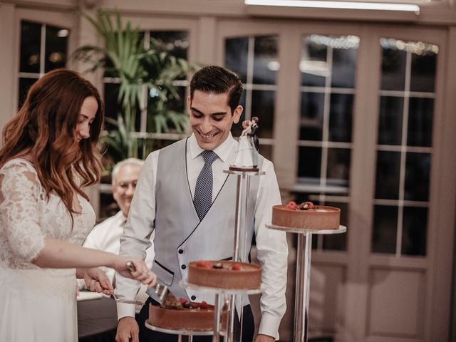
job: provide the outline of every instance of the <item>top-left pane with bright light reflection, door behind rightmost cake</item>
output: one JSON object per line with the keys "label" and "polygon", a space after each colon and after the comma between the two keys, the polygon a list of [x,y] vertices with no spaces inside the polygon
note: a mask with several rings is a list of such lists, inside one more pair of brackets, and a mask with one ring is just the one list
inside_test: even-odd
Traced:
{"label": "top-left pane with bright light reflection, door behind rightmost cake", "polygon": [[306,36],[302,41],[301,62],[301,86],[324,87],[328,76],[328,46],[323,44],[318,35]]}

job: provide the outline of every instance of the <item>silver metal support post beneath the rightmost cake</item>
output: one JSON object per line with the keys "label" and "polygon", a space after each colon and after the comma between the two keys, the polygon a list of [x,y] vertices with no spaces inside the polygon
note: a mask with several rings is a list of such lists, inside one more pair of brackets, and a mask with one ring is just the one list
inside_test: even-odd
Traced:
{"label": "silver metal support post beneath the rightmost cake", "polygon": [[309,291],[311,281],[312,234],[298,234],[296,254],[296,299],[294,308],[294,341],[307,342]]}

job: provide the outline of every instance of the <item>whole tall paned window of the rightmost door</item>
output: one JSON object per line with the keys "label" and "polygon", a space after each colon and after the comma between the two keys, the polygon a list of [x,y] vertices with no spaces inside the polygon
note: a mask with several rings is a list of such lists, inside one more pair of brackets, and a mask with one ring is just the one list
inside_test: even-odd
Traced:
{"label": "whole tall paned window of the rightmost door", "polygon": [[[387,202],[397,217],[374,217],[373,242],[378,243],[373,244],[373,252],[424,256],[439,48],[395,38],[381,38],[380,46],[383,62],[374,202]],[[394,212],[390,210],[389,215]],[[377,219],[383,219],[381,229]],[[397,234],[390,234],[393,231]]]}

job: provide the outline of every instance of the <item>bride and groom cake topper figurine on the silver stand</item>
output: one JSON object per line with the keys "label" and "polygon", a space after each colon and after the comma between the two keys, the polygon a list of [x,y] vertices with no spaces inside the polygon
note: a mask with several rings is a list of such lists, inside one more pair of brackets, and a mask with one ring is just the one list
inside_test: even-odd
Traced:
{"label": "bride and groom cake topper figurine on the silver stand", "polygon": [[234,164],[229,167],[229,170],[258,171],[258,121],[259,119],[254,116],[252,120],[244,120],[242,122],[244,130],[242,130],[239,137],[239,146],[234,158]]}

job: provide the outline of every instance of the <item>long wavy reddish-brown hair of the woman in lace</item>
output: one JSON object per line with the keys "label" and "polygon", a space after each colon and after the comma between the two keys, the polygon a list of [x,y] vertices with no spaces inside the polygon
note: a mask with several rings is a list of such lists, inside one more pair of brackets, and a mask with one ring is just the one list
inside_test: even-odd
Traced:
{"label": "long wavy reddish-brown hair of the woman in lace", "polygon": [[[78,142],[76,126],[88,97],[95,98],[98,110],[90,138]],[[47,196],[55,192],[73,216],[73,195],[88,199],[82,187],[100,180],[97,145],[103,119],[103,101],[89,81],[67,69],[46,73],[31,86],[21,110],[4,127],[0,167],[28,154]]]}

